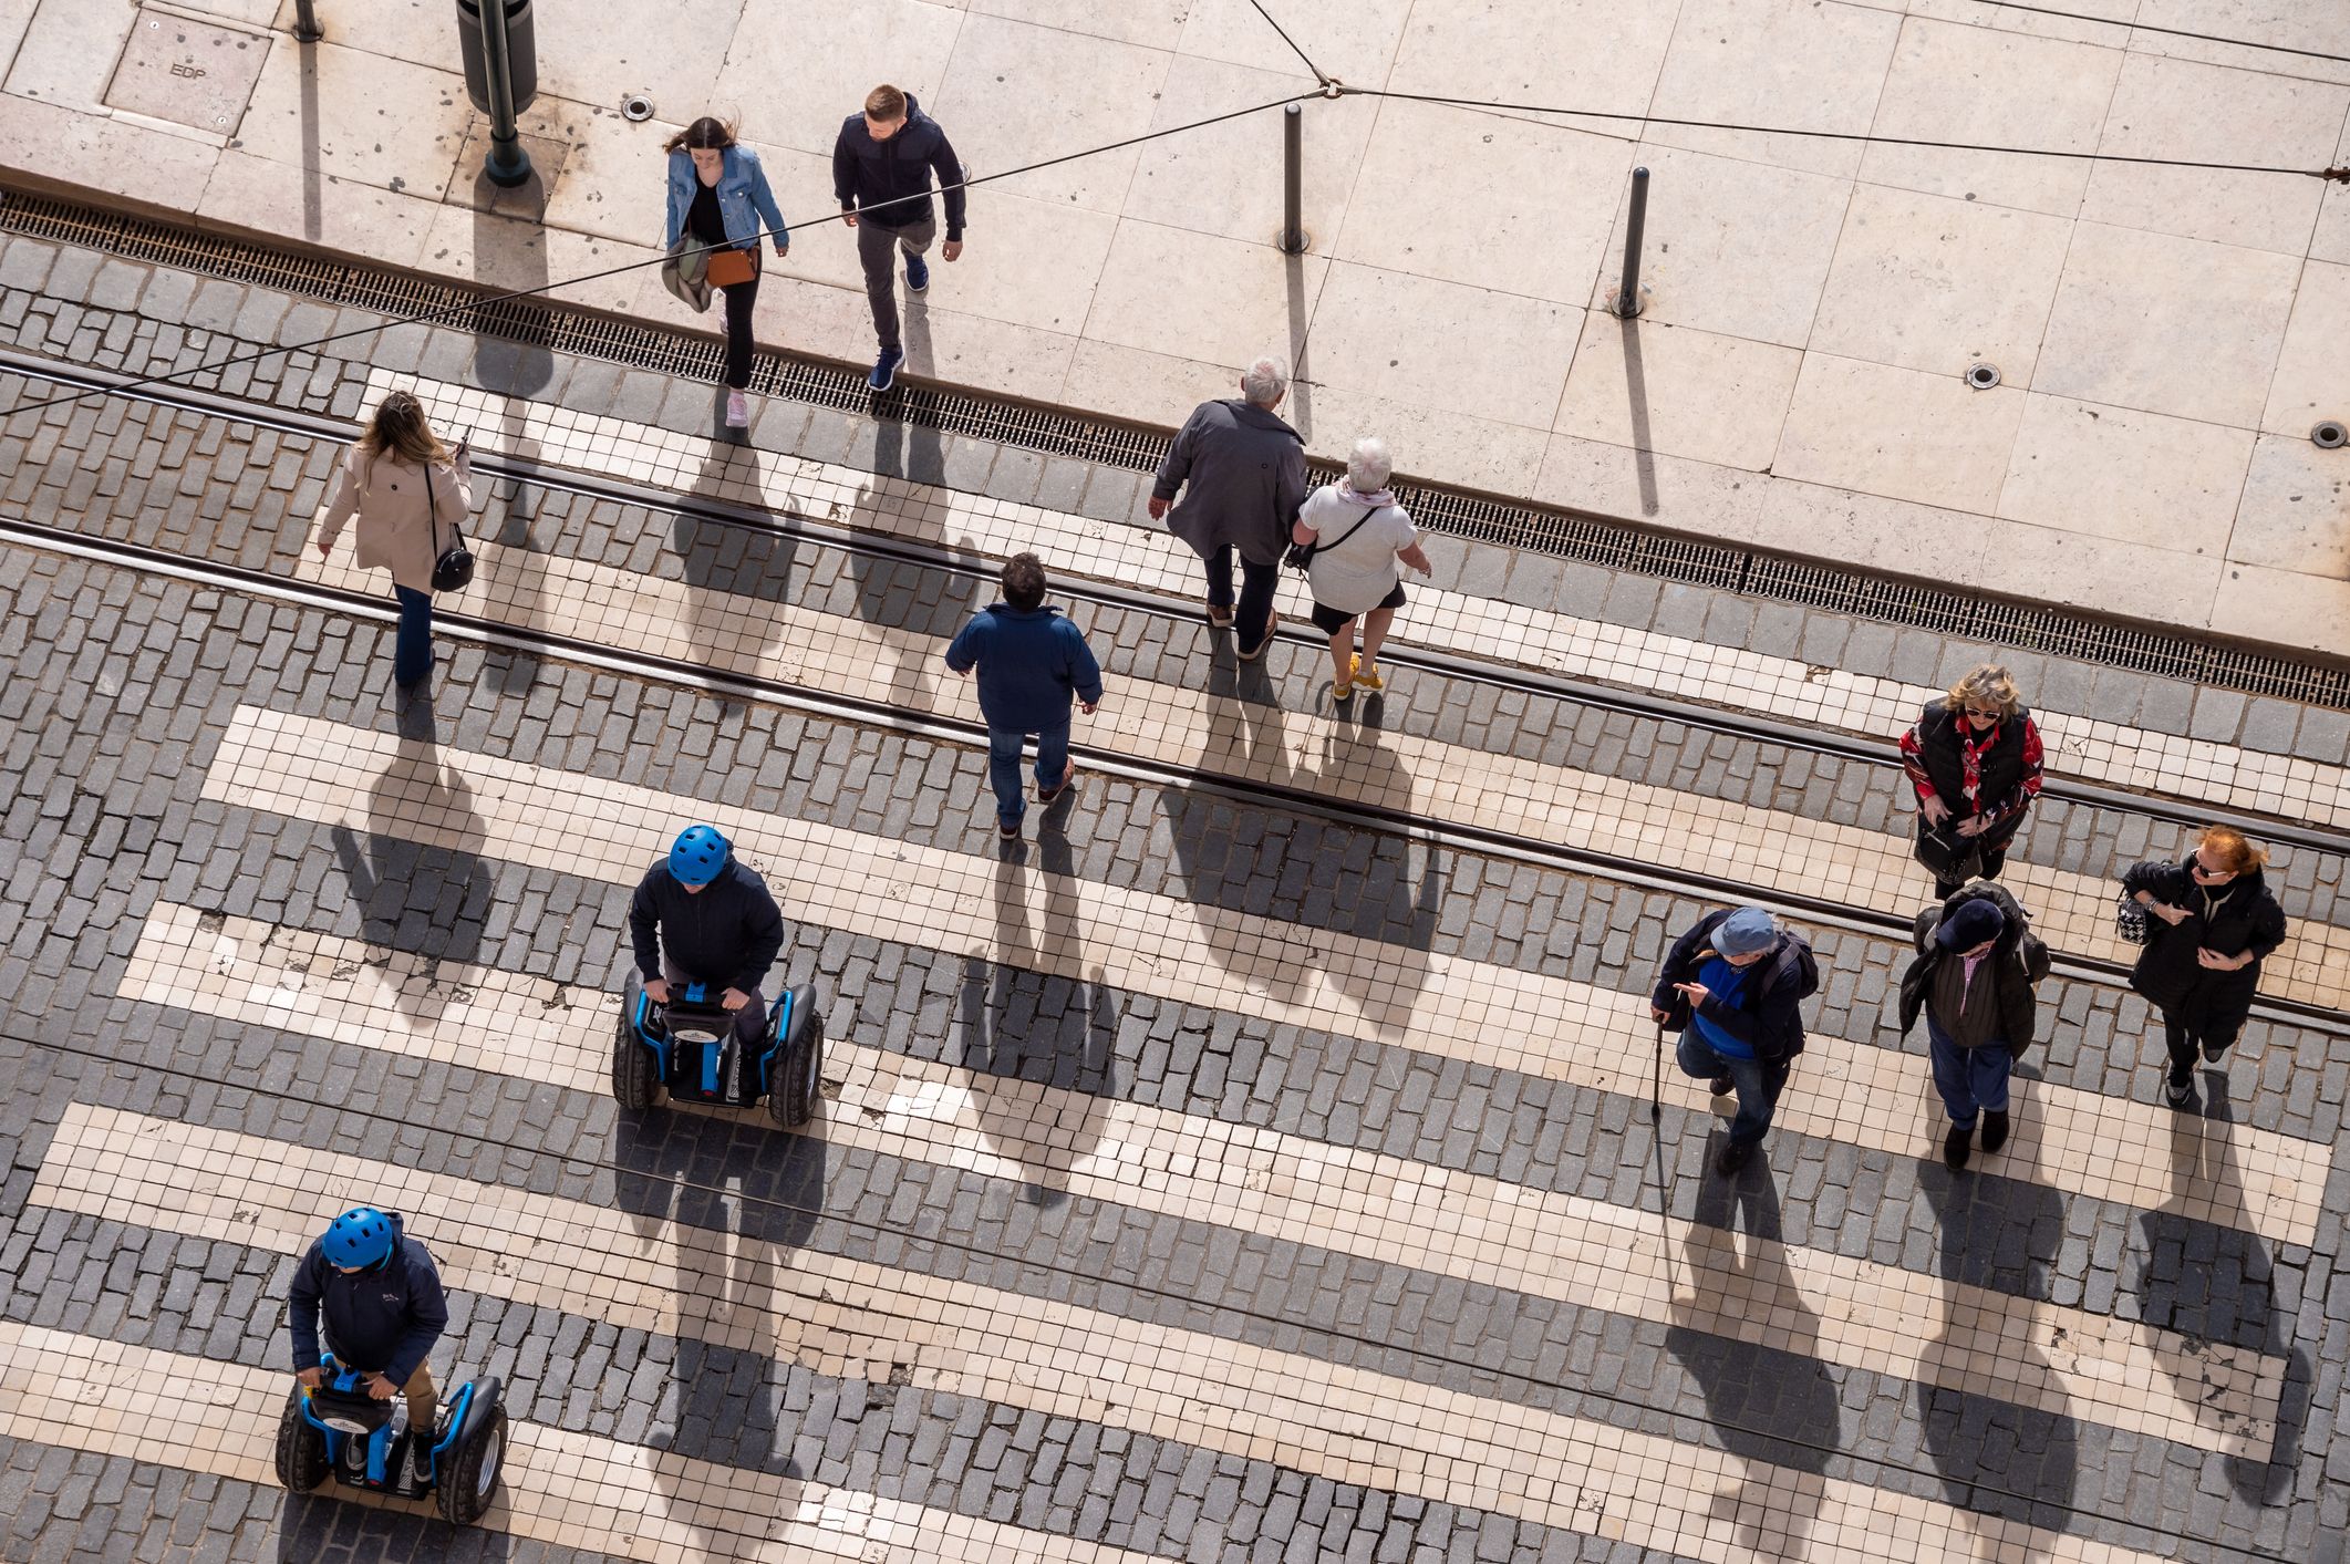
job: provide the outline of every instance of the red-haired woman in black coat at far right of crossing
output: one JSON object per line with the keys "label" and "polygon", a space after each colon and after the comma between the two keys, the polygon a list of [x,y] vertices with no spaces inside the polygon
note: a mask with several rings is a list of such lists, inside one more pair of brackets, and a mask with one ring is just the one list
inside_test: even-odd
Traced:
{"label": "red-haired woman in black coat at far right of crossing", "polygon": [[2162,1012],[2171,1052],[2164,1101],[2195,1101],[2195,1050],[2218,1064],[2244,1031],[2261,958],[2284,944],[2284,909],[2261,869],[2268,852],[2230,827],[2207,827],[2183,862],[2138,864],[2122,895],[2146,909],[2146,951],[2129,986]]}

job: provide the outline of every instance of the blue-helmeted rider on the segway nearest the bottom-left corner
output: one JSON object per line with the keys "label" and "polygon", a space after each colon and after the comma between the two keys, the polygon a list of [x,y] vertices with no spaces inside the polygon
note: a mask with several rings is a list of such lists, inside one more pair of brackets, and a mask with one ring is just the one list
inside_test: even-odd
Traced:
{"label": "blue-helmeted rider on the segway nearest the bottom-left corner", "polygon": [[348,1369],[367,1374],[367,1393],[378,1402],[409,1397],[409,1440],[416,1479],[432,1472],[432,1421],[439,1395],[425,1357],[449,1329],[449,1294],[425,1247],[400,1231],[397,1212],[371,1205],[336,1216],[294,1270],[287,1294],[287,1327],[294,1332],[294,1376],[317,1390],[320,1320],[327,1350]]}

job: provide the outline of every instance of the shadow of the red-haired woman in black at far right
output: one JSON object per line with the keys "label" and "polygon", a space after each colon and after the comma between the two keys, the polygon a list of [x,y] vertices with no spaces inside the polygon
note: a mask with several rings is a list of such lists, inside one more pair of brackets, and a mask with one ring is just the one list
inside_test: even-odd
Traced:
{"label": "shadow of the red-haired woman in black at far right", "polygon": [[2242,1123],[2228,1094],[2228,1071],[2207,1068],[2202,1078],[2202,1113],[2171,1115],[2171,1198],[2138,1214],[2141,1252],[2131,1289],[2146,1324],[2176,1332],[2190,1346],[2176,1357],[2164,1355],[2164,1364],[2174,1371],[2178,1397],[2211,1409],[2211,1425],[2221,1432],[2247,1432],[2244,1418],[2216,1409],[2218,1388],[2202,1367],[2204,1353],[2193,1348],[2221,1343],[2284,1360],[2275,1440],[2256,1454],[2228,1456],[2228,1487],[2235,1496],[2249,1505],[2275,1505],[2291,1496],[2301,1465],[2310,1355],[2291,1341],[2294,1317],[2277,1308],[2268,1242],[2244,1228],[2188,1214],[2204,1205],[2249,1209],[2235,1137],[2216,1130]]}

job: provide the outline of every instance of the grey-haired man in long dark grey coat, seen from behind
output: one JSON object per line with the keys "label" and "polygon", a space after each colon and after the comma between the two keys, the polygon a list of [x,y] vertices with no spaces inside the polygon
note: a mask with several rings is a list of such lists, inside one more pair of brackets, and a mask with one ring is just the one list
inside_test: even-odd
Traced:
{"label": "grey-haired man in long dark grey coat, seen from behind", "polygon": [[[1274,587],[1290,524],[1307,503],[1307,449],[1274,409],[1290,390],[1281,359],[1257,359],[1241,395],[1191,409],[1152,486],[1152,519],[1191,545],[1208,568],[1208,622],[1236,625],[1243,662],[1274,643]],[[1182,488],[1182,500],[1175,491]],[[1173,514],[1168,503],[1173,500]],[[1231,554],[1241,554],[1241,599]]]}

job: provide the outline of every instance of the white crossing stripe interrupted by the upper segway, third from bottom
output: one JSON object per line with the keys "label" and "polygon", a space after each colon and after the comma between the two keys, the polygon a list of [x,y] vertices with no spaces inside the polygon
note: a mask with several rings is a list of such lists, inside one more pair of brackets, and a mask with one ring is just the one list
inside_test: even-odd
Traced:
{"label": "white crossing stripe interrupted by the upper segway, third from bottom", "polygon": [[[200,928],[204,925],[204,928]],[[432,989],[465,996],[416,1014]],[[618,1000],[355,939],[148,914],[127,998],[602,1092]],[[2265,1458],[2284,1362],[1600,1200],[1025,1080],[830,1045],[811,1134],[1384,1266],[1918,1378]],[[63,1177],[63,1169],[59,1169]],[[85,1169],[96,1177],[106,1169]],[[1676,1263],[1678,1261],[1678,1263]],[[1788,1329],[1788,1320],[1810,1322]]]}

